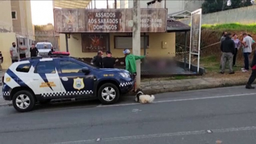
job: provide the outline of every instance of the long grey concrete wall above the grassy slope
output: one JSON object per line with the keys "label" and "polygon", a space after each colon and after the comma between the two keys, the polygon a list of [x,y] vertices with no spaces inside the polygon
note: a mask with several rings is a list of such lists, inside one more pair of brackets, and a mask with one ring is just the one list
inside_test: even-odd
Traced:
{"label": "long grey concrete wall above the grassy slope", "polygon": [[[179,20],[190,24],[190,18]],[[256,5],[202,15],[202,24],[256,23]]]}

